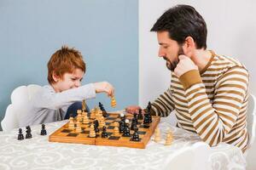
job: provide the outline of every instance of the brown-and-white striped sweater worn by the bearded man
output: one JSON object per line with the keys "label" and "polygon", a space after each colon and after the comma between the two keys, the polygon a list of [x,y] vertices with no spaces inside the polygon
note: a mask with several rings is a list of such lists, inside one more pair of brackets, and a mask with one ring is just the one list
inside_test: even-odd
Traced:
{"label": "brown-and-white striped sweater worn by the bearded man", "polygon": [[199,134],[211,146],[220,142],[247,149],[248,72],[236,59],[212,58],[201,71],[177,78],[152,104],[152,114],[168,116],[176,110],[177,127]]}

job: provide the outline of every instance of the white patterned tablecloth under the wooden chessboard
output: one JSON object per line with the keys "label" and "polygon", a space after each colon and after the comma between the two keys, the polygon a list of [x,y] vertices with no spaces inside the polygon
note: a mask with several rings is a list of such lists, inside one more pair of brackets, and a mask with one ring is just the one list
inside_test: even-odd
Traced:
{"label": "white patterned tablecloth under the wooden chessboard", "polygon": [[[47,133],[53,133],[63,122],[46,124]],[[162,169],[168,156],[184,146],[201,141],[195,133],[173,127],[164,118],[160,121],[162,141],[154,143],[151,139],[147,148],[130,149],[125,147],[96,146],[88,144],[51,143],[47,136],[41,136],[41,126],[32,127],[32,139],[17,140],[18,130],[0,133],[1,170],[131,170]],[[165,132],[171,128],[174,141],[165,146]],[[23,128],[23,133],[25,129]],[[25,135],[25,134],[24,134]],[[210,156],[212,169],[245,169],[246,161],[241,150],[230,144],[213,147]],[[185,161],[184,161],[185,162]]]}

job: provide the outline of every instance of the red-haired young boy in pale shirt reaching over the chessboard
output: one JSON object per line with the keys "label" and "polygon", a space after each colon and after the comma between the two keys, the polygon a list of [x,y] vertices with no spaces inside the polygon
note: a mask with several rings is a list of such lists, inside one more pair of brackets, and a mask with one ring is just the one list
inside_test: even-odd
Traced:
{"label": "red-haired young boy in pale shirt reaching over the chessboard", "polygon": [[86,67],[82,54],[66,46],[57,50],[48,62],[48,82],[32,99],[20,127],[56,122],[64,119],[67,108],[74,102],[95,98],[98,93],[113,96],[108,82],[95,82],[81,86]]}

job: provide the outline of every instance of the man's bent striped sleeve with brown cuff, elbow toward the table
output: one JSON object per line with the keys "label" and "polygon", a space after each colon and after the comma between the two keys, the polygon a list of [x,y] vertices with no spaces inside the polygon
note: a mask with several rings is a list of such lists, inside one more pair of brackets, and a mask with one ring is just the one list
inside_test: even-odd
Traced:
{"label": "man's bent striped sleeve with brown cuff, elbow toward the table", "polygon": [[246,109],[242,108],[242,103],[247,97],[247,70],[236,66],[226,71],[215,86],[212,103],[207,97],[199,71],[184,73],[180,81],[185,88],[195,131],[207,144],[217,145],[238,123],[236,121],[241,109]]}

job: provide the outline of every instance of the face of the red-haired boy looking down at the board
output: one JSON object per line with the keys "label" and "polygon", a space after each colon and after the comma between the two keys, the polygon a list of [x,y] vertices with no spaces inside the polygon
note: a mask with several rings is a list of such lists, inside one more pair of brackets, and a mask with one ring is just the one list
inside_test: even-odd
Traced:
{"label": "face of the red-haired boy looking down at the board", "polygon": [[55,84],[55,92],[62,92],[71,88],[79,88],[81,86],[81,81],[84,77],[84,71],[81,69],[75,69],[73,73],[64,73],[63,77],[56,77],[53,75]]}

